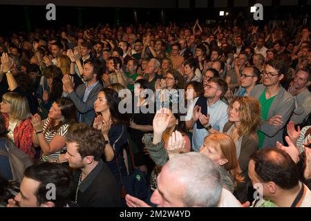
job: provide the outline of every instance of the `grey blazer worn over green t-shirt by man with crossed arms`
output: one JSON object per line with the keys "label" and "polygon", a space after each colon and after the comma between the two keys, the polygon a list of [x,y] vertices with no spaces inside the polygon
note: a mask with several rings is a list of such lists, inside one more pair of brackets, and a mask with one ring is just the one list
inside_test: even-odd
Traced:
{"label": "grey blazer worn over green t-shirt by man with crossed arms", "polygon": [[[259,84],[255,86],[251,93],[249,93],[249,96],[259,100],[259,97],[261,97],[264,89],[265,86],[263,86],[263,84]],[[288,123],[288,119],[290,119],[290,116],[294,111],[294,107],[294,97],[281,86],[279,93],[276,95],[270,106],[268,119],[274,115],[281,115],[283,124],[281,126],[271,126],[267,124],[267,122],[261,122],[259,131],[265,133],[266,135],[262,148],[276,146],[276,141],[283,144],[284,127]]]}

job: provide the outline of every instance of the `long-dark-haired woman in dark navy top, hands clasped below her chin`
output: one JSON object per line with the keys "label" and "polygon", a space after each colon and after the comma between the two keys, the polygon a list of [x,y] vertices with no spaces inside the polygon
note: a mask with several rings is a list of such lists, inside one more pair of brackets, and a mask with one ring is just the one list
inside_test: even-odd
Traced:
{"label": "long-dark-haired woman in dark navy top, hands clasped below her chin", "polygon": [[121,114],[118,106],[121,102],[117,92],[111,88],[103,88],[94,102],[94,110],[97,113],[93,127],[102,130],[106,140],[104,148],[104,161],[120,184],[121,177],[127,175],[124,164],[123,148],[127,142],[128,123],[127,115]]}

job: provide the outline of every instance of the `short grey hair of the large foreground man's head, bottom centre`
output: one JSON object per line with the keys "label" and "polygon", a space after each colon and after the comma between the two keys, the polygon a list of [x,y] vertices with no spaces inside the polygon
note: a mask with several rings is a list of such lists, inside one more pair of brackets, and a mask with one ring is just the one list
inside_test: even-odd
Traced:
{"label": "short grey hair of the large foreground man's head, bottom centre", "polygon": [[208,157],[201,153],[182,153],[167,162],[170,173],[185,184],[182,201],[185,206],[216,207],[223,185],[220,172]]}

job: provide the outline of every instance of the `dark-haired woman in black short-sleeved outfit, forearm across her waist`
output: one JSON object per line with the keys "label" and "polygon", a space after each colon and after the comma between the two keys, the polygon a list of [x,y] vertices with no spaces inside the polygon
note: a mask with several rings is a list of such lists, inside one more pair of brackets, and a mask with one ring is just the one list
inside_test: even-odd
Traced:
{"label": "dark-haired woman in black short-sleeved outfit, forearm across her waist", "polygon": [[[134,88],[134,99],[133,99],[133,115],[132,120],[129,124],[129,135],[131,148],[134,149],[134,161],[135,166],[143,172],[148,172],[152,161],[144,153],[144,144],[142,144],[142,137],[145,133],[153,131],[152,121],[154,117],[154,102],[153,95],[147,99],[147,89],[150,89],[150,85],[145,79],[138,79],[135,81],[139,87]],[[134,84],[134,85],[135,85]],[[146,113],[147,111],[147,113]],[[136,153],[135,153],[136,152]]]}

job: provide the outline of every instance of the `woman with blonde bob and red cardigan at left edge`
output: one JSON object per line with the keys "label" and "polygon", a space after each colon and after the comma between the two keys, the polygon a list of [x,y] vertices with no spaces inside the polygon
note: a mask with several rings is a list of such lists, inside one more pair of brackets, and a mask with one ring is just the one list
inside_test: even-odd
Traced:
{"label": "woman with blonde bob and red cardigan at left edge", "polygon": [[6,93],[2,96],[1,113],[9,131],[8,137],[17,148],[35,158],[35,148],[32,145],[33,128],[30,121],[30,109],[27,98],[18,93]]}

